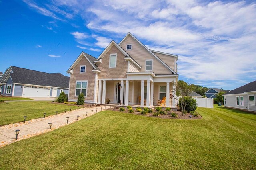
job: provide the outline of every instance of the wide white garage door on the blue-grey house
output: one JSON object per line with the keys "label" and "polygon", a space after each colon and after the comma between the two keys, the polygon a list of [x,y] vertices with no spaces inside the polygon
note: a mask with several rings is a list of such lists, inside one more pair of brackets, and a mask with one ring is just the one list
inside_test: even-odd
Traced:
{"label": "wide white garage door on the blue-grey house", "polygon": [[24,86],[23,97],[50,97],[50,88],[32,88],[36,86]]}

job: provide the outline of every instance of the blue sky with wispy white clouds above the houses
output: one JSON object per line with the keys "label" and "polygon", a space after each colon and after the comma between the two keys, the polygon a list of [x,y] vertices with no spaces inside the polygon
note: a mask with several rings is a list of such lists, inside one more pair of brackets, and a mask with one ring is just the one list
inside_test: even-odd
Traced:
{"label": "blue sky with wispy white clouds above the houses", "polygon": [[256,2],[0,0],[0,71],[66,70],[131,32],[178,55],[180,80],[234,89],[256,80]]}

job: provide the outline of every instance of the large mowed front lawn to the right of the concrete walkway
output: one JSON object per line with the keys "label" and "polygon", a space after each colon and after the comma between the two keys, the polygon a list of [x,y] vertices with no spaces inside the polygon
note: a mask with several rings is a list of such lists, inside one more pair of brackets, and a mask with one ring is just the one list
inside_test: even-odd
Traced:
{"label": "large mowed front lawn to the right of the concrete walkway", "polygon": [[0,148],[0,169],[256,169],[256,115],[196,111],[203,119],[102,111]]}

